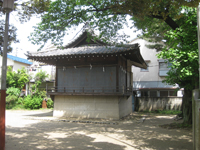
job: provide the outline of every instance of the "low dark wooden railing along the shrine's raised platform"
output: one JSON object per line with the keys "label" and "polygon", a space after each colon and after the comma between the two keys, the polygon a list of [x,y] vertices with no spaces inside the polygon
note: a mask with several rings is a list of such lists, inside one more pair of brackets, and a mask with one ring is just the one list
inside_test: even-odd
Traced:
{"label": "low dark wooden railing along the shrine's raised platform", "polygon": [[49,95],[131,95],[130,87],[46,87]]}

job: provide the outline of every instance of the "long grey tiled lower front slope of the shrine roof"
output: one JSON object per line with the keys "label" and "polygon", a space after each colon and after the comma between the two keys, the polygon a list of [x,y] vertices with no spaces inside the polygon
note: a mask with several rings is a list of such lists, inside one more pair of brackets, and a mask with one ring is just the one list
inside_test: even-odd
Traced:
{"label": "long grey tiled lower front slope of the shrine roof", "polygon": [[90,54],[117,54],[131,50],[139,49],[138,44],[115,47],[115,46],[81,46],[66,49],[52,48],[40,52],[28,52],[27,56],[48,57],[48,56],[62,56],[62,55],[90,55]]}

